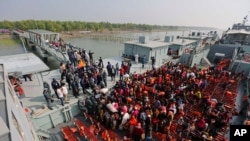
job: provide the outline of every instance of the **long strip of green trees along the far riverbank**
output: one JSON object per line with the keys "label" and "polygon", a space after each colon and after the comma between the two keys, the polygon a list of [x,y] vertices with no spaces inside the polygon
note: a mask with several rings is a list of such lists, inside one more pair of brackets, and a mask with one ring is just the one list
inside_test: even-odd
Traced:
{"label": "long strip of green trees along the far riverbank", "polygon": [[46,21],[46,20],[24,20],[24,21],[0,21],[0,29],[45,29],[54,32],[61,31],[95,31],[103,30],[178,30],[177,26],[159,26],[133,23],[109,23],[109,22],[83,22],[83,21]]}

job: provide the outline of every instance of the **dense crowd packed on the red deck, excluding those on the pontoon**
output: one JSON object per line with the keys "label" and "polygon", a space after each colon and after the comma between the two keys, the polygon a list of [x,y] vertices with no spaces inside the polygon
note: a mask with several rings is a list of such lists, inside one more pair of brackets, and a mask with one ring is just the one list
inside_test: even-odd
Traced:
{"label": "dense crowd packed on the red deck, excluding those on the pontoon", "polygon": [[[99,105],[97,117],[111,129],[123,130],[132,139],[138,139],[137,128],[141,127],[140,139],[160,132],[166,135],[166,140],[177,137],[191,140],[191,133],[200,139],[213,140],[228,125],[232,113],[219,100],[203,92],[209,83],[216,83],[214,79],[238,79],[240,76],[220,67],[201,70],[169,62],[116,82],[109,96],[101,96],[100,101],[106,101],[106,106]],[[228,84],[226,81],[221,87],[226,88]],[[198,106],[200,112],[186,113],[192,112],[192,106]]]}

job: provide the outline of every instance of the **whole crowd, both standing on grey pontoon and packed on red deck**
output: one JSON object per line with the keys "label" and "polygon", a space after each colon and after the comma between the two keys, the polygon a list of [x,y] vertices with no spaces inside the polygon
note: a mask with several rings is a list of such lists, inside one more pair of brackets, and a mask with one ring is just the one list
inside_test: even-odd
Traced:
{"label": "whole crowd, both standing on grey pontoon and packed on red deck", "polygon": [[[61,105],[69,101],[68,90],[78,98],[80,92],[84,95],[91,89],[92,96],[79,98],[80,109],[97,117],[105,127],[121,130],[126,140],[134,141],[153,139],[157,136],[154,133],[165,134],[165,140],[192,140],[194,132],[204,140],[213,140],[228,125],[230,111],[204,93],[208,85],[216,83],[215,79],[238,80],[241,76],[223,70],[225,66],[199,69],[196,65],[168,62],[138,74],[130,72],[131,62],[108,62],[104,66],[101,57],[94,62],[93,54],[84,49],[68,49],[70,62],[60,64],[60,82],[53,79],[51,85],[44,83],[50,109],[50,86]],[[114,86],[103,92],[108,87],[108,77]],[[227,84],[222,87],[226,89]],[[201,112],[190,116],[192,107]]]}

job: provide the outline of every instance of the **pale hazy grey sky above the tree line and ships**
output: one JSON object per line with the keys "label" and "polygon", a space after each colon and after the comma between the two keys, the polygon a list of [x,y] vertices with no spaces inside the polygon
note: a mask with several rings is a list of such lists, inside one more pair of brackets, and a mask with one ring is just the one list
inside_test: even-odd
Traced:
{"label": "pale hazy grey sky above the tree line and ships", "polygon": [[250,0],[1,0],[0,21],[63,20],[205,26],[242,22]]}

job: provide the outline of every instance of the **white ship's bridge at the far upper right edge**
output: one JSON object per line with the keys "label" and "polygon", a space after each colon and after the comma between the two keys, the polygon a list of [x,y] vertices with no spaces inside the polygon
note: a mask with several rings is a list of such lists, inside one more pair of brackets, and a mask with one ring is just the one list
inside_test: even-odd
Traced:
{"label": "white ship's bridge at the far upper right edge", "polygon": [[250,45],[250,25],[234,24],[224,33],[221,43]]}

